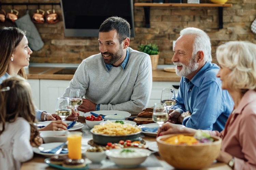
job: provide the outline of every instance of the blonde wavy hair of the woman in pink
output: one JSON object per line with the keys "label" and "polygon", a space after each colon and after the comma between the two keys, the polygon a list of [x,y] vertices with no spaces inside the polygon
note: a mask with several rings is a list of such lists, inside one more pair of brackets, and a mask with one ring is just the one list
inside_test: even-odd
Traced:
{"label": "blonde wavy hair of the woman in pink", "polygon": [[229,87],[256,90],[256,45],[247,41],[229,41],[216,51],[220,65],[229,68]]}

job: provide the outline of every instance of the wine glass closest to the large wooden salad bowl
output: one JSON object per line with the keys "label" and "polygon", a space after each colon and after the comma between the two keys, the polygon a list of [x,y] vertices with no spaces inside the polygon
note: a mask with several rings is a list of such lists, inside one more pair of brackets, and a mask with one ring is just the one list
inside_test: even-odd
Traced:
{"label": "wine glass closest to the large wooden salad bowl", "polygon": [[165,103],[155,103],[152,119],[159,124],[161,132],[163,123],[168,120],[168,109]]}

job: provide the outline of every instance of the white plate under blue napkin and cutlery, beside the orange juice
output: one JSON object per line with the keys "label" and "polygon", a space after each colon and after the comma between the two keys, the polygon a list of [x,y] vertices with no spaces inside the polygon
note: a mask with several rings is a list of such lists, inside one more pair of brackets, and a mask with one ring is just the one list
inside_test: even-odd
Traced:
{"label": "white plate under blue napkin and cutlery, beside the orange juice", "polygon": [[[39,146],[39,148],[33,147],[33,151],[34,153],[40,154],[40,155],[44,155],[44,156],[52,156],[55,155],[55,153],[44,153],[44,152],[40,152],[41,150],[45,150],[45,149],[54,149],[58,146],[60,146],[63,142],[53,142],[53,143],[44,143],[42,145]],[[85,152],[85,150],[87,150],[90,146],[88,145],[83,145],[82,144],[82,152]],[[68,155],[68,153],[60,153],[59,155]]]}

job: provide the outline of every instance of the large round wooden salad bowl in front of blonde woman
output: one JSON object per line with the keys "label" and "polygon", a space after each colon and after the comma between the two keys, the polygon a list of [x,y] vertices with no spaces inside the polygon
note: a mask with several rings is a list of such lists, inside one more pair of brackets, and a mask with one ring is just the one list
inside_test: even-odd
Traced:
{"label": "large round wooden salad bowl in front of blonde woman", "polygon": [[194,134],[171,134],[159,136],[157,146],[161,157],[171,166],[177,169],[202,169],[213,163],[218,157],[221,150],[222,139],[217,136],[211,136],[214,142],[197,143],[191,146],[174,145],[167,143],[164,140],[176,136]]}

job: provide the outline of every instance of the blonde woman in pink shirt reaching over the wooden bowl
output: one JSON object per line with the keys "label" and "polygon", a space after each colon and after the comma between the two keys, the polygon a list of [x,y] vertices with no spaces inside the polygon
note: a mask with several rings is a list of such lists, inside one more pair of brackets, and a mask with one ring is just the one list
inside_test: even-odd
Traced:
{"label": "blonde woman in pink shirt reaching over the wooden bowl", "polygon": [[[228,90],[234,101],[222,132],[205,131],[223,139],[217,160],[235,170],[256,169],[256,45],[245,41],[230,41],[217,48],[217,73],[222,89]],[[177,128],[165,123],[158,135],[195,133],[195,129]]]}

